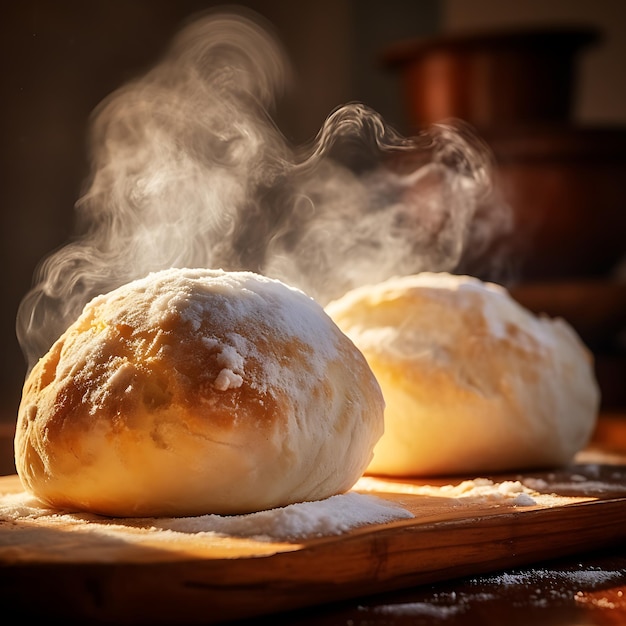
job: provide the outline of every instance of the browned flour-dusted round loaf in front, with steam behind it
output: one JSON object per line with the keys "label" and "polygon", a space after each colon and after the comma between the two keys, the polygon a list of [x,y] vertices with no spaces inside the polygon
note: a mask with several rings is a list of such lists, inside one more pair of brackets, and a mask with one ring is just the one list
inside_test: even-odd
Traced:
{"label": "browned flour-dusted round loaf in front, with steam behind it", "polygon": [[350,489],[383,409],[363,355],[301,291],[172,269],[93,299],[40,359],[15,458],[53,507],[245,513]]}

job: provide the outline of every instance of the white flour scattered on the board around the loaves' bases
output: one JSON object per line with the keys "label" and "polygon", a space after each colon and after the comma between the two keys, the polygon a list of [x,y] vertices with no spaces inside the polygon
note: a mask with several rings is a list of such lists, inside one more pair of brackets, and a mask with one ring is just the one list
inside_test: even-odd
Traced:
{"label": "white flour scattered on the board around the loaves' bases", "polygon": [[[592,490],[606,488],[593,466],[584,474],[572,474],[569,484],[588,486]],[[82,524],[94,532],[120,533],[125,529],[150,533],[151,538],[167,539],[172,534],[214,534],[247,537],[261,541],[302,540],[312,537],[339,535],[353,528],[391,521],[412,519],[413,513],[400,504],[384,499],[385,485],[389,491],[407,495],[445,497],[457,502],[480,500],[486,504],[533,506],[544,503],[552,482],[525,477],[522,480],[494,482],[487,478],[464,480],[458,484],[440,486],[410,483],[385,483],[363,477],[353,491],[317,502],[302,502],[285,507],[249,513],[247,515],[201,515],[181,518],[112,519],[98,515],[59,511],[47,508],[36,498],[22,492],[0,495],[0,520],[42,519],[49,523]],[[380,496],[380,497],[379,497]]]}

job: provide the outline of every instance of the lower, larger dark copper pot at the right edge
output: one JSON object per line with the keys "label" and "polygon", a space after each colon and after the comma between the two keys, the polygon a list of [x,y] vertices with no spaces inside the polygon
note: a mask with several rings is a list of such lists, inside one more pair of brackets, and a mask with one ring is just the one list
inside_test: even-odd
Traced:
{"label": "lower, larger dark copper pot at the right edge", "polygon": [[518,278],[610,275],[626,255],[626,129],[485,131],[515,215]]}

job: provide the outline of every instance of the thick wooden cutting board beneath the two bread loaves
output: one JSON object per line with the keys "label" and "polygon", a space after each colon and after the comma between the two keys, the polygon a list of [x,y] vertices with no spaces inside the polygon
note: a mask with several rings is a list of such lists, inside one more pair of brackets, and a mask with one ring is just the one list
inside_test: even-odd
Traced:
{"label": "thick wooden cutting board beneath the two bread loaves", "polygon": [[[475,481],[462,479],[365,479],[358,491],[414,517],[299,541],[194,533],[163,541],[162,533],[124,520],[5,515],[0,600],[5,608],[29,607],[30,616],[83,623],[212,623],[495,571],[626,538],[626,465],[584,462],[490,478],[491,495],[477,495]],[[520,505],[496,493],[507,480],[530,485],[532,498]],[[0,478],[0,496],[20,492],[16,476]],[[92,532],[100,523],[115,532]]]}

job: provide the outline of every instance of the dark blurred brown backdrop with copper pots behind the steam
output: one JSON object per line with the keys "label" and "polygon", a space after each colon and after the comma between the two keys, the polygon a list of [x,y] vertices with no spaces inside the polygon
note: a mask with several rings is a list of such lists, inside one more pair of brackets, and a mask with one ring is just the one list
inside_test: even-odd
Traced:
{"label": "dark blurred brown backdrop with copper pots behind the steam", "polygon": [[[514,294],[570,318],[598,357],[605,408],[626,406],[626,3],[621,0],[258,0],[296,72],[276,121],[311,139],[362,101],[403,134],[447,117],[494,150],[530,242]],[[157,61],[207,0],[21,0],[0,8],[0,424],[25,361],[20,300],[72,235],[98,103]]]}

